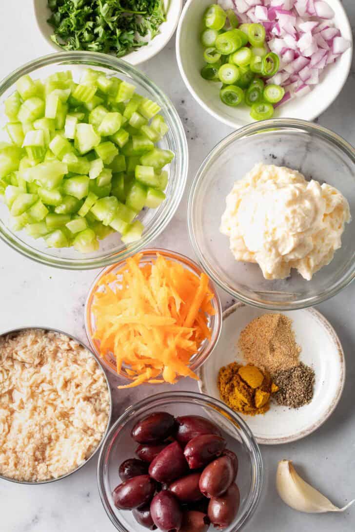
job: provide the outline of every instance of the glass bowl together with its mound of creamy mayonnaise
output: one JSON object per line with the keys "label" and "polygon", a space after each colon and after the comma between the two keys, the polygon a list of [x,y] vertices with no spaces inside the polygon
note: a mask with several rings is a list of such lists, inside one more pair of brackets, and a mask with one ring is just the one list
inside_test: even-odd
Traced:
{"label": "glass bowl together with its mound of creamy mayonnaise", "polygon": [[200,264],[230,295],[302,309],[355,276],[355,149],[296,119],[253,123],[221,140],[197,171],[188,232]]}

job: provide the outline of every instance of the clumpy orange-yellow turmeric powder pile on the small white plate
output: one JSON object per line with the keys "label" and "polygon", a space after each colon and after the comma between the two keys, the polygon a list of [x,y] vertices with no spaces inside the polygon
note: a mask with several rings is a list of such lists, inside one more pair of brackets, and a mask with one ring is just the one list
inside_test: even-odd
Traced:
{"label": "clumpy orange-yellow turmeric powder pile on the small white plate", "polygon": [[278,389],[268,371],[236,362],[219,370],[217,384],[222,400],[232,410],[249,415],[267,412],[270,395]]}

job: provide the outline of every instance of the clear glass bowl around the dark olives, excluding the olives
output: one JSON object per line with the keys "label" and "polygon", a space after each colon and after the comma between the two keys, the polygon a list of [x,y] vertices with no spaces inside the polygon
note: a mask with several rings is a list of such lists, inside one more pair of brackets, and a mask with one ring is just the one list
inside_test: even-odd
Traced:
{"label": "clear glass bowl around the dark olives, excluding the olives", "polygon": [[[239,459],[239,471],[236,483],[241,492],[238,514],[225,532],[242,530],[250,521],[257,508],[263,480],[263,464],[257,442],[238,414],[224,403],[195,392],[167,392],[153,395],[130,406],[114,423],[106,436],[98,459],[98,491],[106,513],[120,532],[144,532],[128,510],[119,510],[113,504],[113,489],[120,484],[118,468],[123,460],[133,458],[134,442],[130,431],[135,423],[154,411],[169,412],[173,415],[201,415],[223,429],[227,448],[235,452]],[[212,526],[209,532],[216,530]]]}

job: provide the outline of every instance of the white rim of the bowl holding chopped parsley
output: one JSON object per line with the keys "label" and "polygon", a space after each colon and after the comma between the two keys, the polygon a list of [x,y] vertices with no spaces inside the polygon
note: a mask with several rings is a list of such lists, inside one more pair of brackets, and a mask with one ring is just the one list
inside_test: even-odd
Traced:
{"label": "white rim of the bowl holding chopped parsley", "polygon": [[[38,1],[39,0],[32,0],[33,10],[34,10],[34,15],[35,15],[35,20],[36,20],[36,25],[37,25],[38,31],[40,32],[42,37],[45,39],[46,43],[49,46],[51,46],[55,51],[58,52],[60,50],[63,50],[63,48],[61,46],[56,45],[51,40],[50,37],[48,38],[44,34],[44,32],[42,30],[42,25],[40,23],[40,14],[39,14]],[[138,65],[138,64],[144,63],[145,61],[148,61],[148,60],[152,59],[152,57],[154,57],[156,54],[161,52],[164,47],[166,47],[166,45],[169,43],[169,40],[174,35],[174,32],[175,32],[175,30],[177,28],[177,25],[178,25],[178,22],[179,22],[179,19],[180,19],[180,16],[181,16],[181,11],[183,9],[183,0],[169,0],[167,18],[166,18],[166,21],[162,22],[162,24],[165,24],[165,23],[168,22],[168,16],[169,16],[169,10],[170,10],[171,2],[178,3],[179,7],[178,7],[178,10],[176,12],[176,19],[174,20],[174,23],[172,23],[170,25],[169,31],[160,32],[160,34],[158,34],[158,35],[164,36],[164,38],[161,39],[161,42],[158,45],[156,45],[156,41],[154,41],[154,38],[153,38],[153,39],[151,39],[149,41],[149,43],[150,43],[149,47],[142,46],[141,48],[138,48],[137,50],[135,50],[133,52],[129,52],[129,54],[123,55],[120,58],[117,57],[116,59],[123,59],[123,60],[127,61],[127,63],[129,63],[131,65]],[[48,26],[49,26],[49,24],[48,24]],[[158,37],[158,35],[156,37]],[[115,57],[113,54],[105,54],[105,55],[112,55],[112,57]],[[125,57],[127,59],[124,59]]]}

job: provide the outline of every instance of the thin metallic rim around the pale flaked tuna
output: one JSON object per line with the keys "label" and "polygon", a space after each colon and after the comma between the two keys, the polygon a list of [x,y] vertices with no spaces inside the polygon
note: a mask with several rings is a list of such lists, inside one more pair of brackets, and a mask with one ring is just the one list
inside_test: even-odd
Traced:
{"label": "thin metallic rim around the pale flaked tuna", "polygon": [[88,347],[84,342],[81,342],[81,340],[79,340],[76,336],[73,336],[73,335],[69,334],[68,332],[65,332],[65,331],[63,331],[61,329],[56,329],[56,328],[53,328],[53,327],[46,327],[46,326],[40,326],[40,325],[34,325],[34,326],[28,325],[28,326],[16,327],[15,329],[9,329],[9,330],[6,330],[4,332],[0,332],[0,337],[6,336],[6,335],[10,335],[10,334],[18,334],[19,332],[24,331],[24,330],[28,330],[28,329],[38,329],[38,330],[44,330],[44,331],[48,331],[48,332],[59,332],[60,334],[63,334],[65,336],[68,336],[72,340],[75,340],[82,347],[85,347],[85,349],[90,353],[90,355],[92,355],[94,357],[94,359],[96,360],[96,362],[98,364],[98,367],[101,369],[101,371],[103,373],[103,376],[105,377],[106,385],[107,385],[108,392],[109,392],[109,401],[110,401],[110,411],[109,411],[108,422],[107,422],[107,425],[106,425],[106,429],[105,429],[105,431],[104,431],[104,433],[102,435],[102,438],[100,440],[100,443],[97,445],[95,451],[92,454],[90,454],[89,458],[87,460],[85,460],[84,462],[82,462],[82,464],[78,465],[78,467],[76,469],[73,469],[72,471],[69,471],[69,473],[65,473],[65,475],[62,475],[61,477],[51,478],[49,480],[40,480],[38,482],[32,482],[30,480],[18,480],[18,479],[11,478],[11,477],[5,477],[4,475],[0,474],[0,479],[2,479],[2,480],[7,480],[7,481],[13,482],[15,484],[28,484],[28,485],[31,485],[31,486],[37,486],[37,485],[40,485],[40,484],[51,484],[52,482],[56,482],[57,480],[62,480],[63,478],[70,477],[70,475],[73,475],[73,473],[76,473],[77,471],[79,471],[79,469],[84,467],[84,465],[86,465],[93,458],[93,456],[96,453],[98,453],[98,451],[100,450],[100,447],[102,446],[102,444],[103,444],[103,442],[104,442],[104,440],[105,440],[105,438],[108,435],[109,430],[110,430],[110,425],[111,425],[111,421],[112,421],[113,400],[112,400],[112,392],[111,392],[109,379],[108,379],[108,377],[106,375],[106,372],[105,372],[105,369],[103,367],[103,364],[101,363],[100,359],[98,359],[98,357],[95,355],[95,353],[92,351],[92,349],[90,347]]}

